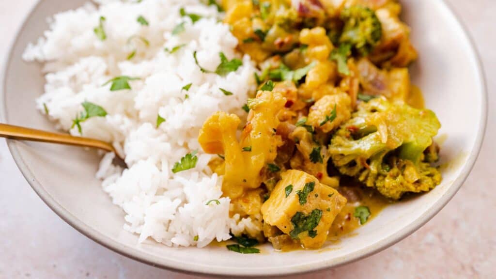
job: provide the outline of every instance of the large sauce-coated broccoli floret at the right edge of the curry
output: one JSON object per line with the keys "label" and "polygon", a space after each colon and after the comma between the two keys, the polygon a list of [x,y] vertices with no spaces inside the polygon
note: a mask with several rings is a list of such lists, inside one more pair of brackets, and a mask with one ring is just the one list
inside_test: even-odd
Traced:
{"label": "large sauce-coated broccoli floret at the right edge of the curry", "polygon": [[439,171],[424,153],[440,127],[431,110],[376,98],[359,104],[333,136],[328,152],[339,172],[396,200],[440,183]]}

